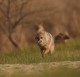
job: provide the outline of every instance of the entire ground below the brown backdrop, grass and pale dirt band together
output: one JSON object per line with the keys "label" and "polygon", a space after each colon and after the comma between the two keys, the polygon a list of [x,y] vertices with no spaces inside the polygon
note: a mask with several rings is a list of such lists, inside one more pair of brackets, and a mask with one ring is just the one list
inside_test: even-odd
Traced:
{"label": "entire ground below the brown backdrop, grass and pale dirt band together", "polygon": [[70,39],[41,57],[38,46],[0,52],[0,77],[80,77],[80,41]]}

